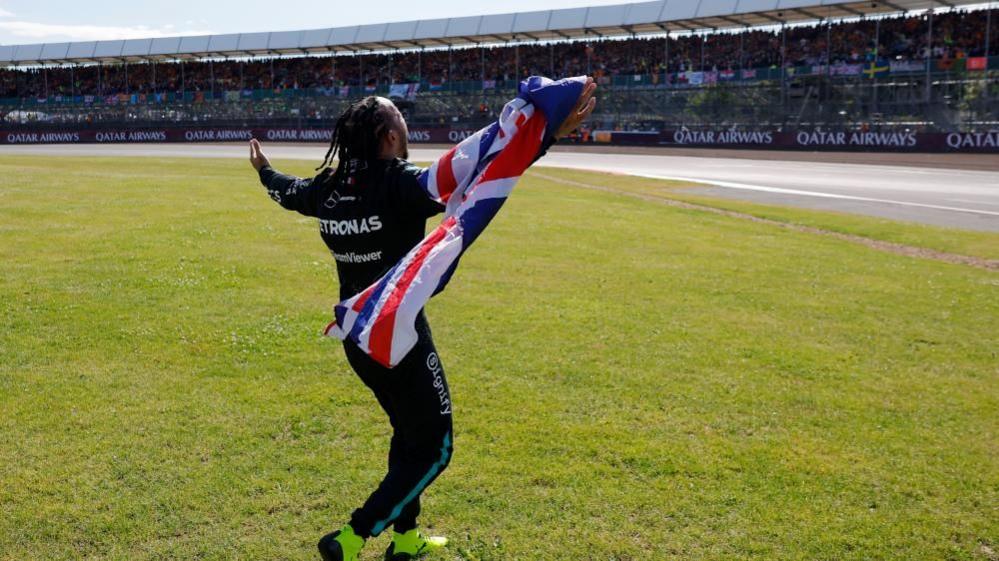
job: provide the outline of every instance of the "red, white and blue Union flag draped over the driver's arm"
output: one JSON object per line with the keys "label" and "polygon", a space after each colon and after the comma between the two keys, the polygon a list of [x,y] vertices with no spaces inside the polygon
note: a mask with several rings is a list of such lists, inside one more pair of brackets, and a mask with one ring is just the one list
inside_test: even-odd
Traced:
{"label": "red, white and blue Union flag draped over the driver's arm", "polygon": [[520,83],[498,121],[451,148],[420,176],[427,195],[446,205],[444,220],[378,281],[334,308],[325,334],[350,338],[391,368],[416,344],[416,316],[444,290],[458,260],[506,201],[546,136],[569,116],[585,77]]}

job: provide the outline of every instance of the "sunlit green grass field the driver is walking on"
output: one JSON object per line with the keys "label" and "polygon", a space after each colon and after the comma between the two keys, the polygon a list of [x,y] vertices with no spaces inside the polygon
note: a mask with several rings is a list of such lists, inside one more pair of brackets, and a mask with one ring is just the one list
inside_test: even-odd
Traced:
{"label": "sunlit green grass field the driver is walking on", "polygon": [[[242,161],[0,176],[0,559],[313,559],[389,427],[312,220]],[[994,271],[528,175],[428,315],[440,559],[999,559]]]}

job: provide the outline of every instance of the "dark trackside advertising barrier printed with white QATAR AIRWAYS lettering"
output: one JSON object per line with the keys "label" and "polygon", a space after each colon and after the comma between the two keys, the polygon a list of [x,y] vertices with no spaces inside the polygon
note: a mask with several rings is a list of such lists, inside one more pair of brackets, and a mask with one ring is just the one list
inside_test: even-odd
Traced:
{"label": "dark trackside advertising barrier printed with white QATAR AIRWAYS lettering", "polygon": [[[414,144],[455,144],[475,133],[471,128],[409,129]],[[81,129],[61,131],[0,131],[0,144],[329,141],[330,129],[295,128],[160,128]],[[662,131],[593,131],[597,144],[753,148],[776,150],[979,152],[999,154],[999,130],[988,132],[921,133],[911,131],[777,131],[731,129],[669,129]]]}

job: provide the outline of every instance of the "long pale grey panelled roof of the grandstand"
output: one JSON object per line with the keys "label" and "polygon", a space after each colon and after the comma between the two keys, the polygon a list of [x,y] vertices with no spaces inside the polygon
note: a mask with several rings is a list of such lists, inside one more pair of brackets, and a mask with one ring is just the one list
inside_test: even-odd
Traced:
{"label": "long pale grey panelled roof of the grandstand", "polygon": [[470,46],[508,41],[730,29],[980,4],[981,0],[658,0],[592,8],[261,33],[0,45],[0,65]]}

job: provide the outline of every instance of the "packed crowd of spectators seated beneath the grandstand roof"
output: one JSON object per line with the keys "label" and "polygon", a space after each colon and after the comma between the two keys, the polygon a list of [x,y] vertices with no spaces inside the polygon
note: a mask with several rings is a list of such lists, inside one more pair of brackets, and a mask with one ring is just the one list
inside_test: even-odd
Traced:
{"label": "packed crowd of spectators seated beneath the grandstand roof", "polygon": [[[686,33],[669,38],[580,40],[406,51],[132,64],[89,64],[0,70],[0,98],[148,95],[156,93],[327,89],[422,82],[430,89],[457,81],[507,81],[531,74],[659,75],[826,63],[960,59],[999,51],[999,17],[991,18],[992,53],[985,52],[986,10],[951,10],[933,18],[897,15],[812,24]],[[215,96],[217,97],[217,95]]]}

